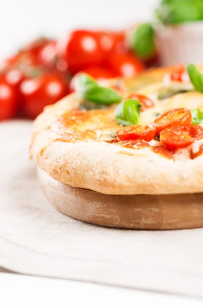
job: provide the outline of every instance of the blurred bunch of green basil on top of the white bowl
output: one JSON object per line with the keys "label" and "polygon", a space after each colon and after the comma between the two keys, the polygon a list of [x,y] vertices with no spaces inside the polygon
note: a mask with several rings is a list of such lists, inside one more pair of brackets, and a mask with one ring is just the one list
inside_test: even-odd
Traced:
{"label": "blurred bunch of green basil on top of the white bowl", "polygon": [[162,0],[156,10],[156,17],[164,24],[202,20],[202,0]]}

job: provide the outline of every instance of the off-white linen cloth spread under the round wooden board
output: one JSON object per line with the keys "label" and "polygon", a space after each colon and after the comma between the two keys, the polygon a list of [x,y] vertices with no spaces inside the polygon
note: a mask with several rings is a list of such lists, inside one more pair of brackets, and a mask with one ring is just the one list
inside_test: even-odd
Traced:
{"label": "off-white linen cloth spread under the round wooden board", "polygon": [[60,214],[28,159],[30,129],[27,121],[0,124],[0,266],[203,297],[203,229],[110,229]]}

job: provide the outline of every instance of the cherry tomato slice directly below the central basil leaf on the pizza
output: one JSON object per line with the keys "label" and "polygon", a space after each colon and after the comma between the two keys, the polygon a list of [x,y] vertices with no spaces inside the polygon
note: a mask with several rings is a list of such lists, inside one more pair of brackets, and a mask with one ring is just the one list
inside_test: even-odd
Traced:
{"label": "cherry tomato slice directly below the central basil leaf on the pizza", "polygon": [[149,142],[156,136],[156,128],[148,125],[130,125],[118,130],[116,135],[121,141],[140,138]]}

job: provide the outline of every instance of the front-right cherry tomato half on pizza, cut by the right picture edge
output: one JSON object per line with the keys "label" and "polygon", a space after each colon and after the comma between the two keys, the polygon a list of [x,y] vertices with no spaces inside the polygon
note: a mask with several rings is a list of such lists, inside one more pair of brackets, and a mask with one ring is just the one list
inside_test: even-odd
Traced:
{"label": "front-right cherry tomato half on pizza, cut by the right picture edge", "polygon": [[184,148],[201,138],[203,138],[203,128],[194,124],[173,126],[160,133],[160,141],[171,150]]}

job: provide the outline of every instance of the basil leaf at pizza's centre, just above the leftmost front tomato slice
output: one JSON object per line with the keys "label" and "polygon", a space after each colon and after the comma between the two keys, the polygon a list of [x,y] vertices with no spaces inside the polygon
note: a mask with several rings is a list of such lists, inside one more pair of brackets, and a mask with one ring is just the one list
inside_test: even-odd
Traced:
{"label": "basil leaf at pizza's centre, just above the leftmost front tomato slice", "polygon": [[122,126],[138,125],[140,108],[141,104],[138,100],[126,100],[116,107],[114,115]]}

